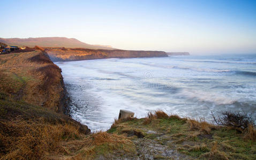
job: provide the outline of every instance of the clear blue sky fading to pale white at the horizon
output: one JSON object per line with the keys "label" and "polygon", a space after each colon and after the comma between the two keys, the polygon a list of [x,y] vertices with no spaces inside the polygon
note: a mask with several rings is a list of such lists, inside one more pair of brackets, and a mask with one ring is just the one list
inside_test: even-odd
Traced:
{"label": "clear blue sky fading to pale white at the horizon", "polygon": [[256,53],[256,1],[0,1],[2,38],[127,50]]}

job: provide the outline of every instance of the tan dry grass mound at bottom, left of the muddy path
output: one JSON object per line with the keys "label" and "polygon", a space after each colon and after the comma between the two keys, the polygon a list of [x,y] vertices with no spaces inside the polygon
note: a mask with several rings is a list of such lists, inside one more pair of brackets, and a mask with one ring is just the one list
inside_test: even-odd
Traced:
{"label": "tan dry grass mound at bottom, left of the muddy path", "polygon": [[102,131],[91,134],[83,140],[67,143],[68,145],[65,147],[67,150],[78,153],[67,159],[95,159],[97,155],[103,155],[107,158],[110,156],[108,154],[113,152],[129,154],[135,149],[129,138]]}

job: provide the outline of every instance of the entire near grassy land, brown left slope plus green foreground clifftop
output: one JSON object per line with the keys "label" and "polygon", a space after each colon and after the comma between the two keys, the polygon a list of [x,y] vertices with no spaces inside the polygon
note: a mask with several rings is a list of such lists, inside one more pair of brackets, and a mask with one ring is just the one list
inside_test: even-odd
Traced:
{"label": "entire near grassy land, brown left slope plus green foreground clifftop", "polygon": [[246,132],[163,113],[87,135],[56,109],[62,77],[46,55],[1,55],[0,65],[0,159],[256,159]]}

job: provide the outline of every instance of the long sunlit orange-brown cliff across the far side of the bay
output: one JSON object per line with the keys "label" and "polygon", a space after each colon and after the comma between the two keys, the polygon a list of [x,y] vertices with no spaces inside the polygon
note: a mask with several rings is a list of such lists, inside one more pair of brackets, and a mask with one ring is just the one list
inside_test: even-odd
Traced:
{"label": "long sunlit orange-brown cliff across the far side of the bay", "polygon": [[52,61],[77,61],[106,58],[167,57],[163,51],[91,50],[50,48],[46,51]]}

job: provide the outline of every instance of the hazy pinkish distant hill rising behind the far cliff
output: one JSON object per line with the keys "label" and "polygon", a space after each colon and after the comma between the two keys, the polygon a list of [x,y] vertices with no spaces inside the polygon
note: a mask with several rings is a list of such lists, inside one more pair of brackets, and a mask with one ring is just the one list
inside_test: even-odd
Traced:
{"label": "hazy pinkish distant hill rising behind the far cliff", "polygon": [[7,45],[28,46],[35,45],[42,47],[70,47],[70,48],[86,48],[86,49],[104,49],[113,50],[111,46],[92,45],[78,41],[75,38],[65,37],[42,37],[42,38],[0,38],[0,42]]}

